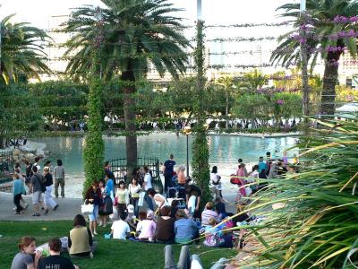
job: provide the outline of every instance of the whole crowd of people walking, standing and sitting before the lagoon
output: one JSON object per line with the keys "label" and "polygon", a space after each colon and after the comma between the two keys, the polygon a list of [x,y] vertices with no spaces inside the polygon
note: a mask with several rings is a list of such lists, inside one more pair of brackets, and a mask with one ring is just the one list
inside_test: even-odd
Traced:
{"label": "whole crowd of people walking, standing and sitting before the lagoon", "polygon": [[[297,172],[299,168],[296,157],[293,164],[288,163],[286,152],[282,158],[272,157],[271,153],[267,152],[266,160],[260,157],[258,164],[253,165],[250,172],[247,171],[243,160],[239,159],[236,172],[230,179],[232,184],[238,186],[237,212],[230,213],[226,212],[226,200],[223,198],[221,176],[217,166],[212,167],[209,178],[209,188],[214,200],[206,203],[201,209],[202,190],[192,184],[190,178],[185,177],[183,165],[175,169],[175,164],[173,155],[164,162],[162,172],[165,188],[164,194],[159,194],[153,188],[148,167],[134,169],[128,183],[121,180],[115,184],[115,176],[106,162],[105,178],[93,180],[86,191],[85,203],[91,204],[91,210],[83,214],[88,215],[89,227],[83,214],[76,215],[65,242],[60,239],[51,239],[48,242],[50,256],[47,258],[35,254],[35,239],[22,238],[19,244],[20,253],[13,258],[12,268],[47,268],[46,266],[51,263],[68,265],[64,268],[76,268],[70,260],[59,257],[60,244],[61,249],[67,249],[72,258],[93,257],[97,247],[94,239],[99,234],[97,228],[102,226],[106,230],[108,221],[112,221],[112,224],[107,232],[101,235],[106,239],[183,245],[200,244],[201,239],[207,247],[243,247],[244,230],[240,229],[240,226],[254,221],[255,217],[242,212],[250,203],[251,194],[268,185],[264,180],[258,179],[285,178],[288,173]],[[27,165],[24,178],[21,178],[21,170],[15,168],[15,213],[21,213],[28,206],[21,205],[21,194],[26,191],[25,184],[32,193],[33,216],[40,214],[41,206],[44,213],[47,213],[49,208],[55,210],[58,204],[51,196],[54,179],[50,163],[45,164],[43,173],[39,173],[38,161],[33,165]],[[58,196],[58,187],[61,186],[61,195],[64,197],[64,168],[61,160],[57,161],[53,174],[55,196]],[[42,194],[45,196],[44,201]],[[235,226],[238,227],[238,233],[234,232]]]}

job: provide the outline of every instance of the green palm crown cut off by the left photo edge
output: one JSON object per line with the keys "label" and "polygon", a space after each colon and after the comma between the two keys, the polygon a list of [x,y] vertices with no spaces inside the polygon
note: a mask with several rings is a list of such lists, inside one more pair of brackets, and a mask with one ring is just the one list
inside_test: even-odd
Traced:
{"label": "green palm crown cut off by the left photo edge", "polygon": [[32,27],[29,23],[10,22],[14,14],[4,17],[1,26],[1,75],[6,84],[19,79],[37,78],[39,74],[50,74],[45,64],[45,31]]}

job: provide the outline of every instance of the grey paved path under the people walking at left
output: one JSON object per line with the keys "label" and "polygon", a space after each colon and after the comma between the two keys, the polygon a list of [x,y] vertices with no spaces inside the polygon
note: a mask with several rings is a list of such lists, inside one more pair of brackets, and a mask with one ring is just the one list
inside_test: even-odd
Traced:
{"label": "grey paved path under the people walking at left", "polygon": [[[0,192],[0,221],[60,221],[73,220],[74,216],[81,213],[81,198],[58,198],[55,201],[58,203],[56,211],[50,209],[46,215],[41,213],[39,217],[32,216],[32,203],[30,195],[22,195],[26,203],[29,204],[27,210],[19,215],[13,213],[13,194]],[[225,194],[224,197],[233,202],[235,195],[233,193]],[[235,213],[234,204],[226,204],[226,211]]]}

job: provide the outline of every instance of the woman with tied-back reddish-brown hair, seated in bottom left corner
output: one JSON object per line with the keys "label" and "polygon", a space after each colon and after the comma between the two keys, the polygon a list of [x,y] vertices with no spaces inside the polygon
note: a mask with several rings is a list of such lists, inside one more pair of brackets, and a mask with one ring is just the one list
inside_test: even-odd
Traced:
{"label": "woman with tied-back reddish-brown hair, seated in bottom left corner", "polygon": [[[18,247],[20,252],[13,257],[11,269],[35,269],[42,256],[41,252],[36,251],[36,239],[29,236],[22,237]],[[33,255],[35,255],[34,259]]]}

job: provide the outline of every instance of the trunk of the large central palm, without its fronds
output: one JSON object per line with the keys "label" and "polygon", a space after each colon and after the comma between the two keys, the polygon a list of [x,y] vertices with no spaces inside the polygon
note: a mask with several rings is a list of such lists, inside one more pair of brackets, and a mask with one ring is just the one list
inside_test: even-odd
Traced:
{"label": "trunk of the large central palm, without its fronds", "polygon": [[[137,165],[137,134],[135,126],[135,79],[132,70],[122,74],[124,82],[132,82],[132,85],[124,87],[124,124],[125,124],[125,152],[127,155],[127,167]],[[129,172],[129,171],[128,171]]]}

